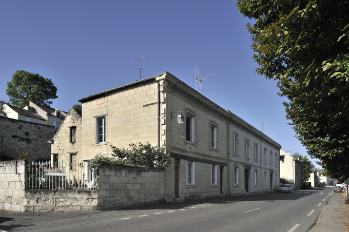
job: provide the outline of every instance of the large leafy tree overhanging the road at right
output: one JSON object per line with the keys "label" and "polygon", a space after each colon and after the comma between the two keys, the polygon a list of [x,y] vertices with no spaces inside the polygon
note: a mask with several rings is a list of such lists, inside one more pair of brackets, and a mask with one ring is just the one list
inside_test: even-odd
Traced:
{"label": "large leafy tree overhanging the road at right", "polygon": [[349,1],[238,0],[257,72],[277,81],[286,118],[334,178],[349,172]]}

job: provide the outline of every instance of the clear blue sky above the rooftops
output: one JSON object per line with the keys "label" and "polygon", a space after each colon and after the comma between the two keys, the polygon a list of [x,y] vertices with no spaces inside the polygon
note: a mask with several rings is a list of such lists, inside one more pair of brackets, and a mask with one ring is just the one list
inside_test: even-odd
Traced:
{"label": "clear blue sky above the rooftops", "polygon": [[[236,0],[0,1],[0,100],[16,70],[51,79],[68,111],[78,99],[168,71],[281,144],[307,155],[287,124],[276,83],[251,59],[249,22]],[[307,155],[308,158],[310,158]],[[315,160],[311,159],[312,163]]]}

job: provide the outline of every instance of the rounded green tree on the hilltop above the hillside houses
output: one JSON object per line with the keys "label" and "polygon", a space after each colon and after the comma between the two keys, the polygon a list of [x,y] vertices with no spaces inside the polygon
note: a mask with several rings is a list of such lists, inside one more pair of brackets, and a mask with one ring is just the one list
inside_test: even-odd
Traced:
{"label": "rounded green tree on the hilltop above the hillside houses", "polygon": [[45,79],[39,74],[17,70],[12,75],[12,81],[7,83],[6,94],[13,106],[29,106],[29,101],[36,105],[50,106],[49,99],[56,99],[57,88],[51,79]]}

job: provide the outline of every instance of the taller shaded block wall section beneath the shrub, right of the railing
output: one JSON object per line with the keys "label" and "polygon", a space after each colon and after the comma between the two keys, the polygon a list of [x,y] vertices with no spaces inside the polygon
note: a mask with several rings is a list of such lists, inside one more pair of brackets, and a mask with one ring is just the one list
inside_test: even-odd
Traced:
{"label": "taller shaded block wall section beneath the shrub, right of the railing", "polygon": [[99,169],[98,209],[159,203],[164,198],[164,168],[102,166]]}

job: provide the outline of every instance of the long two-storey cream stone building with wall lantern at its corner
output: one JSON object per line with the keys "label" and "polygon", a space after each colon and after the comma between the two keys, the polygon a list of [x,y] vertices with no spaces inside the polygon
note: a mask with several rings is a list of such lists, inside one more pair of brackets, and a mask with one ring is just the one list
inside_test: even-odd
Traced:
{"label": "long two-storey cream stone building with wall lantern at its corner", "polygon": [[64,156],[88,162],[98,153],[110,154],[110,145],[166,146],[166,201],[272,191],[279,184],[280,144],[168,72],[79,101],[81,131],[69,111],[51,141],[59,160],[63,148]]}

